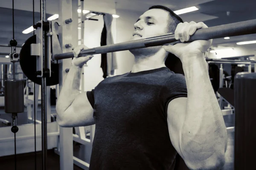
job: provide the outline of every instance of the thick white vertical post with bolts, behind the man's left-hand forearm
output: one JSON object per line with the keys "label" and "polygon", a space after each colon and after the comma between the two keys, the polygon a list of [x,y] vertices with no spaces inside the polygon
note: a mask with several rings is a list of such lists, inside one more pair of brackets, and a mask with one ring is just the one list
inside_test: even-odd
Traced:
{"label": "thick white vertical post with bolts, behind the man's left-hand forearm", "polygon": [[[74,0],[73,0],[74,1]],[[75,0],[77,1],[77,0]],[[77,6],[76,6],[77,13]],[[59,28],[59,41],[62,53],[71,52],[72,48],[66,48],[65,44],[73,44],[73,22],[66,24],[65,20],[72,18],[72,0],[59,0],[59,18],[58,21],[61,25]],[[73,19],[73,18],[72,18]],[[74,20],[74,19],[73,19]],[[77,22],[76,22],[77,27]],[[77,37],[77,36],[76,36]],[[73,44],[74,46],[74,44]],[[59,91],[61,91],[62,84],[64,83],[67,73],[66,68],[70,68],[72,59],[64,59],[61,61],[59,67]],[[60,154],[60,170],[73,170],[73,128],[60,127],[59,139],[59,154]]]}

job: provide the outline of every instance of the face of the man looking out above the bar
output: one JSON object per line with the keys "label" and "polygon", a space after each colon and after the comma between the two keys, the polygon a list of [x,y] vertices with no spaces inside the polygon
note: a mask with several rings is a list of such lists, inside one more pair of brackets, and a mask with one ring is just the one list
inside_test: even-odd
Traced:
{"label": "face of the man looking out above the bar", "polygon": [[[169,12],[163,9],[150,9],[139,17],[134,24],[135,31],[131,40],[139,40],[167,34]],[[139,35],[137,35],[139,34]]]}

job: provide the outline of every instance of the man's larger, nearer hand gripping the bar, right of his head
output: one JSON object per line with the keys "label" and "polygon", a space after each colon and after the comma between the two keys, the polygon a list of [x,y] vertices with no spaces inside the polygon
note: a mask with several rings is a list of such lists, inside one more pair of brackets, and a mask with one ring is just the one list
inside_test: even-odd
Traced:
{"label": "man's larger, nearer hand gripping the bar, right of his head", "polygon": [[196,40],[193,42],[186,42],[196,30],[201,28],[208,28],[203,22],[195,23],[179,23],[175,30],[175,39],[183,43],[175,45],[163,45],[165,51],[174,54],[180,58],[181,62],[188,62],[203,56],[207,49],[212,45],[212,40]]}

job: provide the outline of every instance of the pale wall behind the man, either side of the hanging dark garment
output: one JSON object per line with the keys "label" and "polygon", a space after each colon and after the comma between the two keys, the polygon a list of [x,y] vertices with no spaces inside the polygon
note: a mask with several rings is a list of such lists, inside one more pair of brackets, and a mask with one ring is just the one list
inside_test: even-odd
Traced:
{"label": "pale wall behind the man, either side of the hanging dark garment", "polygon": [[[134,23],[142,13],[134,13],[134,11],[120,10],[116,11],[120,16],[113,18],[112,35],[114,43],[125,42],[130,40],[134,32]],[[102,16],[93,17],[98,21],[86,20],[84,22],[84,45],[88,48],[100,46],[101,33],[104,26]],[[79,34],[79,38],[81,35]],[[134,56],[129,51],[116,52],[117,69],[114,75],[125,74],[131,71],[134,64]],[[87,62],[84,67],[84,91],[91,90],[103,80],[103,72],[101,65],[101,54],[96,54]]]}

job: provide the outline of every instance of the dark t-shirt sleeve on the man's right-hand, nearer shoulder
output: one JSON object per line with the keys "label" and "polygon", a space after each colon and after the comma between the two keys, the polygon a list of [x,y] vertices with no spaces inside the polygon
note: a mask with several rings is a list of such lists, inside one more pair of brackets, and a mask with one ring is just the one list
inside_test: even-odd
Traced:
{"label": "dark t-shirt sleeve on the man's right-hand, nearer shoulder", "polygon": [[160,92],[160,100],[163,102],[166,118],[169,102],[179,97],[187,97],[187,94],[185,76],[183,74],[172,74]]}

